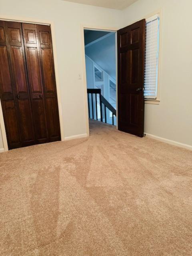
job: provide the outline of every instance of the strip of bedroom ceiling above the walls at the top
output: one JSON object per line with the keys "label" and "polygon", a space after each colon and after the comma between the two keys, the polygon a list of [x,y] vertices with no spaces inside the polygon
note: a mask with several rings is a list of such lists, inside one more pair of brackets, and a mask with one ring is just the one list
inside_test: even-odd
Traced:
{"label": "strip of bedroom ceiling above the walls at the top", "polygon": [[137,0],[67,0],[68,2],[74,2],[79,4],[89,4],[94,6],[100,6],[105,8],[112,8],[117,10],[123,10],[130,6]]}

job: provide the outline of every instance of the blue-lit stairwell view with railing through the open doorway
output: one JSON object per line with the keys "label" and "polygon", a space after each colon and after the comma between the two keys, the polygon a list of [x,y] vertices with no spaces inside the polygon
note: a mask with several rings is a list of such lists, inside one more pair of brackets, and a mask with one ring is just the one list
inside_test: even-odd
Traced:
{"label": "blue-lit stairwell view with railing through the open doorway", "polygon": [[116,32],[84,28],[88,115],[116,126]]}

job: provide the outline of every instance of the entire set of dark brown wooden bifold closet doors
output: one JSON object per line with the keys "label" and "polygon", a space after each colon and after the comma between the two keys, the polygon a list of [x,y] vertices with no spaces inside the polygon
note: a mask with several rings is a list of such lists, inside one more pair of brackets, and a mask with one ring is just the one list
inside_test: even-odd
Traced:
{"label": "entire set of dark brown wooden bifold closet doors", "polygon": [[0,99],[9,149],[60,140],[50,26],[0,21]]}

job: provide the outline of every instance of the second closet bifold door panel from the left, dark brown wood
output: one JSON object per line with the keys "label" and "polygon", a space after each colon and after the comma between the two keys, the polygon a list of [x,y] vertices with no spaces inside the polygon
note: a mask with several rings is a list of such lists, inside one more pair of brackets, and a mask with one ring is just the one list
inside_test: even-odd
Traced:
{"label": "second closet bifold door panel from the left, dark brown wood", "polygon": [[[5,24],[17,107],[16,116],[19,122],[20,142],[21,146],[30,146],[35,144],[35,138],[22,27],[19,22],[5,22]],[[11,124],[9,125],[12,126]]]}

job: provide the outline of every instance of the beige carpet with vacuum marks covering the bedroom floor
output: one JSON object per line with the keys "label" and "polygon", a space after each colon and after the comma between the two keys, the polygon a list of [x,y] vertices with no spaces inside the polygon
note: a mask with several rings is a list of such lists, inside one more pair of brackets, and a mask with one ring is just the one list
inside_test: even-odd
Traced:
{"label": "beige carpet with vacuum marks covering the bedroom floor", "polygon": [[95,121],[0,154],[0,255],[192,255],[192,152]]}

